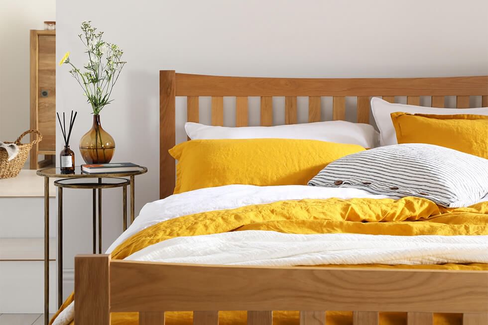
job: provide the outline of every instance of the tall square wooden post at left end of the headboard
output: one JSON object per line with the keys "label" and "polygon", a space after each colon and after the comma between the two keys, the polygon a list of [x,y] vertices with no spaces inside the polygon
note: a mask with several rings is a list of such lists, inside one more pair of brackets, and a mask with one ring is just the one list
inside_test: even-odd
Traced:
{"label": "tall square wooden post at left end of the headboard", "polygon": [[175,161],[168,150],[175,145],[174,70],[159,71],[159,198],[173,194]]}

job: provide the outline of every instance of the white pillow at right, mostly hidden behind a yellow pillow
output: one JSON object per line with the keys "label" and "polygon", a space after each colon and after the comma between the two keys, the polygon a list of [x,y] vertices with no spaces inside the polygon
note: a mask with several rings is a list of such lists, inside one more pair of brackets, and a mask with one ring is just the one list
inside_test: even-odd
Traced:
{"label": "white pillow at right, mostly hidden behind a yellow pillow", "polygon": [[396,132],[391,121],[391,113],[402,111],[413,114],[476,114],[488,115],[488,107],[485,108],[431,108],[414,105],[391,104],[377,97],[371,98],[371,110],[373,112],[374,120],[379,129],[380,145],[398,144],[396,140]]}

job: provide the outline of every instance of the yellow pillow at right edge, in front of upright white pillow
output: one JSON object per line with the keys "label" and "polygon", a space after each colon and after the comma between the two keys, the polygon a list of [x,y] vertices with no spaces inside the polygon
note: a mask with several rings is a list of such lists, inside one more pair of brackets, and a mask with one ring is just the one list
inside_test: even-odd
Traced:
{"label": "yellow pillow at right edge, in front of upright white pillow", "polygon": [[429,143],[488,159],[488,116],[391,113],[398,143]]}

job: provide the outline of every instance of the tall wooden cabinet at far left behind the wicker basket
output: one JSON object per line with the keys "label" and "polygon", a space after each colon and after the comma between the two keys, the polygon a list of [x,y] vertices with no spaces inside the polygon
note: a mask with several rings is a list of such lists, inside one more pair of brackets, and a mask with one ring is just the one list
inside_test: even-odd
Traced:
{"label": "tall wooden cabinet at far left behind the wicker basket", "polygon": [[[55,30],[30,31],[30,128],[42,133],[42,141],[32,146],[30,169],[53,165],[56,157]],[[41,155],[43,159],[39,159]]]}

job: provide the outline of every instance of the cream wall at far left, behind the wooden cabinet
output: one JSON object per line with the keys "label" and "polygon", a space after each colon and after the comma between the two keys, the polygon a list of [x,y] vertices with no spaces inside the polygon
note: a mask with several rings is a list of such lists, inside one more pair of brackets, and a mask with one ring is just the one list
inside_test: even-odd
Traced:
{"label": "cream wall at far left, behind the wooden cabinet", "polygon": [[56,20],[55,0],[0,0],[0,141],[30,127],[29,30],[46,20]]}

